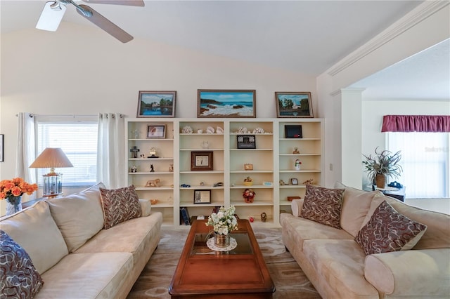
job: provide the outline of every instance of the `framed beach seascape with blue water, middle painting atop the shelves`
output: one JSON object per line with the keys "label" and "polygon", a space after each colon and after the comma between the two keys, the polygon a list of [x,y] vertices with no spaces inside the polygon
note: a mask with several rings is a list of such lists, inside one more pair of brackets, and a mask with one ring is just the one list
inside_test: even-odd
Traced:
{"label": "framed beach seascape with blue water, middle painting atop the shelves", "polygon": [[256,91],[198,89],[197,117],[256,117]]}

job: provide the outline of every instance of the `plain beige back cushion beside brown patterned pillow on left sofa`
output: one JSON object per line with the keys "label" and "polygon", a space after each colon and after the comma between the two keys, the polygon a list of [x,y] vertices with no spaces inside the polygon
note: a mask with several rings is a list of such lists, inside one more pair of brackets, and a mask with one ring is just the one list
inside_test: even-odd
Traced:
{"label": "plain beige back cushion beside brown patterned pillow on left sofa", "polygon": [[49,199],[50,212],[73,252],[103,228],[99,182],[82,192]]}

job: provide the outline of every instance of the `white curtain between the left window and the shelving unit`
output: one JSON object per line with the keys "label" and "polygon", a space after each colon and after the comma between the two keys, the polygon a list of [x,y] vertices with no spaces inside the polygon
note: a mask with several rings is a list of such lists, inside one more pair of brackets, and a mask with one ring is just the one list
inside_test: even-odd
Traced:
{"label": "white curtain between the left window and the shelving unit", "polygon": [[98,114],[97,181],[108,188],[125,187],[124,117]]}

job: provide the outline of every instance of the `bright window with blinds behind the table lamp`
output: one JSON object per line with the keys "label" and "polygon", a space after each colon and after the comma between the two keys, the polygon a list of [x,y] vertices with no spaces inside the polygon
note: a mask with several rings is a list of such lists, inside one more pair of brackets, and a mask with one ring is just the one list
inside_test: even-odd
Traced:
{"label": "bright window with blinds behind the table lamp", "polygon": [[[63,173],[64,187],[88,187],[97,180],[97,121],[96,117],[75,117],[70,121],[48,121],[37,117],[37,155],[46,147],[60,147],[72,162],[73,168],[57,168]],[[67,119],[67,117],[65,117]],[[49,169],[37,169],[37,182],[42,185],[42,175]]]}

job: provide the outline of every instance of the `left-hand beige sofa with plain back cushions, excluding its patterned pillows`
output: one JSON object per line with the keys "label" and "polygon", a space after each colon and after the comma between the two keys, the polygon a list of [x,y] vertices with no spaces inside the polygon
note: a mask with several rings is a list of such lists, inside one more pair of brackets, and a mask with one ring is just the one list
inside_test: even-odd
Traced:
{"label": "left-hand beige sofa with plain back cushions, excluding its patterned pillows", "polygon": [[158,246],[162,214],[149,201],[139,199],[141,217],[103,229],[99,187],[1,218],[44,280],[34,298],[126,298]]}

